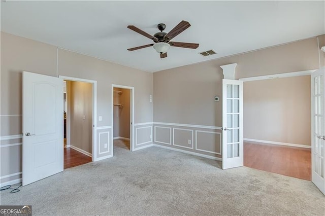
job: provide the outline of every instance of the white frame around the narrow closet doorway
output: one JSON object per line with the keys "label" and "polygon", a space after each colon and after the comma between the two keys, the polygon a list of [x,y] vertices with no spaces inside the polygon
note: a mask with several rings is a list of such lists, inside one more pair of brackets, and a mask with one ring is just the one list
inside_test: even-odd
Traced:
{"label": "white frame around the narrow closet doorway", "polygon": [[[112,84],[112,99],[111,99],[111,125],[112,125],[112,134],[114,134],[114,88],[129,89],[130,90],[130,151],[134,151],[134,87],[133,86],[123,86]],[[112,143],[112,155],[114,156],[114,136],[111,136]]]}

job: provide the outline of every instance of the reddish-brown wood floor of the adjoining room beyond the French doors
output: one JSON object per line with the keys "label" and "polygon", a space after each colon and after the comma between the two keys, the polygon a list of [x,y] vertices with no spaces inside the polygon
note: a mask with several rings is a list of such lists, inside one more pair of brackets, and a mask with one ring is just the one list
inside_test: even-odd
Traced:
{"label": "reddish-brown wood floor of the adjoining room beyond the French doors", "polygon": [[311,181],[311,150],[244,141],[244,166]]}

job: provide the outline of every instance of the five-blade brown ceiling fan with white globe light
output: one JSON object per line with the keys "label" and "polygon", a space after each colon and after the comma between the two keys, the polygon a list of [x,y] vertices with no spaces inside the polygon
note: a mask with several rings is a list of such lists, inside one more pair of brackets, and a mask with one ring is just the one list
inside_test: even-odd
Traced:
{"label": "five-blade brown ceiling fan with white globe light", "polygon": [[166,58],[167,50],[171,46],[172,47],[197,49],[199,47],[199,44],[171,41],[173,38],[175,38],[178,34],[183,32],[189,26],[191,26],[189,24],[189,22],[183,20],[180,23],[178,23],[178,25],[176,25],[170,32],[166,33],[163,31],[163,30],[165,30],[166,25],[164,23],[160,23],[157,25],[157,28],[160,30],[160,32],[157,32],[152,36],[152,35],[148,34],[147,32],[144,32],[143,30],[137,28],[134,25],[128,25],[127,28],[134,30],[135,32],[138,32],[139,34],[142,34],[144,37],[151,39],[154,42],[154,44],[148,44],[148,45],[143,45],[140,47],[129,48],[127,50],[134,51],[134,50],[139,50],[142,48],[153,46],[153,49],[155,49],[157,51],[157,53],[160,53],[160,58]]}

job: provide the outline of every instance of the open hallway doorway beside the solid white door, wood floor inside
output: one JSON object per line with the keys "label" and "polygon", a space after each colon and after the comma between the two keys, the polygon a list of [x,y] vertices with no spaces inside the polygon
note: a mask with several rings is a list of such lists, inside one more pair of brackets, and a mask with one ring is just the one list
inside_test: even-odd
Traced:
{"label": "open hallway doorway beside the solid white door, wood floor inside", "polygon": [[92,161],[93,83],[64,79],[64,169]]}

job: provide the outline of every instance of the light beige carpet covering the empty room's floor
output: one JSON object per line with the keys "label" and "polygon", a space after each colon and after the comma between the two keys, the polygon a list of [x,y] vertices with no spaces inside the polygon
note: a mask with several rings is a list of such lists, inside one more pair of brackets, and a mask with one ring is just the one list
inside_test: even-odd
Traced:
{"label": "light beige carpet covering the empty room's floor", "polygon": [[[121,148],[122,147],[122,148]],[[324,215],[325,197],[309,181],[157,147],[64,170],[1,193],[2,205],[33,215]]]}

